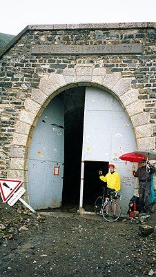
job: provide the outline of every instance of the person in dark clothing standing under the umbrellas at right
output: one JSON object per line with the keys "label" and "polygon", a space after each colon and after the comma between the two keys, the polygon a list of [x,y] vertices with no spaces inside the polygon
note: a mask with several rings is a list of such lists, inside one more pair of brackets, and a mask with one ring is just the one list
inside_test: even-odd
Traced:
{"label": "person in dark clothing standing under the umbrellas at right", "polygon": [[153,173],[156,172],[155,167],[142,160],[142,167],[135,171],[133,165],[133,176],[139,178],[139,209],[140,213],[146,212],[150,214],[150,181]]}

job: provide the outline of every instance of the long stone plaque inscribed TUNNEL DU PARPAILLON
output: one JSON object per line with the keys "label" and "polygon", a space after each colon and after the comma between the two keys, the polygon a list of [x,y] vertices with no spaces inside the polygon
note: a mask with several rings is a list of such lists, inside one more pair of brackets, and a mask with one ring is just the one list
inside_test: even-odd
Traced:
{"label": "long stone plaque inscribed TUNNEL DU PARPAILLON", "polygon": [[142,54],[142,43],[106,45],[32,45],[31,54]]}

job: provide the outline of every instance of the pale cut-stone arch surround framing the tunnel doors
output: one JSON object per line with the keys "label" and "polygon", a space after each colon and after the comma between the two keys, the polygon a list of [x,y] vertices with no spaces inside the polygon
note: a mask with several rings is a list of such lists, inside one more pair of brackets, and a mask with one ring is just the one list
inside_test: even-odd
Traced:
{"label": "pale cut-stone arch surround framing the tunnel doors", "polygon": [[[148,112],[144,112],[144,102],[138,99],[139,90],[133,89],[135,78],[123,77],[121,73],[107,74],[101,65],[95,68],[90,64],[77,64],[75,68],[66,68],[61,74],[40,75],[39,89],[32,89],[31,97],[26,99],[10,147],[10,170],[8,177],[21,178],[28,196],[28,150],[33,129],[41,112],[57,94],[74,86],[95,86],[104,89],[119,100],[132,122],[137,147],[154,147],[153,125],[148,122]],[[148,130],[148,132],[147,132]],[[148,136],[147,136],[148,134]]]}

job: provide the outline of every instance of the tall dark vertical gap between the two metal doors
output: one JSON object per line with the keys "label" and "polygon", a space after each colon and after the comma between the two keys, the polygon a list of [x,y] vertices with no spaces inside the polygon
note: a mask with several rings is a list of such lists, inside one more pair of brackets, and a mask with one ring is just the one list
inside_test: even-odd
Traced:
{"label": "tall dark vertical gap between the two metal doors", "polygon": [[85,88],[66,90],[62,205],[79,205]]}

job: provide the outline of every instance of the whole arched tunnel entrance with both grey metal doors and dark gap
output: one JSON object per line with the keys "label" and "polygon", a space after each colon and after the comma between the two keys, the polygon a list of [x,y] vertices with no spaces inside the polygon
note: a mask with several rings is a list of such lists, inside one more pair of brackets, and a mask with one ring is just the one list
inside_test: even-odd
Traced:
{"label": "whole arched tunnel entrance with both grey metal doors and dark gap", "polygon": [[[64,90],[47,105],[32,136],[30,205],[48,209],[72,204],[92,212],[105,185],[99,181],[99,170],[105,175],[108,161],[113,161],[122,173],[117,153],[134,145],[132,127],[115,97],[93,87]],[[127,178],[131,169],[125,170],[123,180],[128,179],[133,189],[133,180]],[[123,186],[127,198],[131,190]]]}

